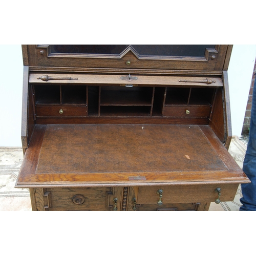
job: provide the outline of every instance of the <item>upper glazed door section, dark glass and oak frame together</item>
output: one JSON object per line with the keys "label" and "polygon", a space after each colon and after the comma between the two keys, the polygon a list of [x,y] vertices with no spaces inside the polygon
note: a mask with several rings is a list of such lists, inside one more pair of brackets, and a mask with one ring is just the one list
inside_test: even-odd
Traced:
{"label": "upper glazed door section, dark glass and oak frame together", "polygon": [[[225,66],[226,52],[230,51],[228,45],[113,45],[113,46],[62,46],[61,49],[52,45],[26,45],[23,52],[28,56],[30,67],[40,70],[40,67],[57,69],[69,67],[70,69],[87,70],[100,69],[148,69],[148,70],[194,70],[194,71],[221,71]],[[114,47],[115,50],[97,48]],[[177,49],[180,48],[180,49]],[[200,48],[200,49],[198,49]],[[127,62],[129,61],[129,62]],[[129,64],[127,64],[129,63]],[[111,72],[112,73],[112,72]]]}

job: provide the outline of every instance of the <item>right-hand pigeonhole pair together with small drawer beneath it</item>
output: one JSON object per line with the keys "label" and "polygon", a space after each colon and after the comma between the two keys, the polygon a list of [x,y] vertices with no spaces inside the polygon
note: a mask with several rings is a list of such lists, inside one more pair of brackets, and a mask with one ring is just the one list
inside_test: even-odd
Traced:
{"label": "right-hand pigeonhole pair together with small drawer beneath it", "polygon": [[215,88],[166,87],[162,114],[169,117],[209,117],[215,94]]}

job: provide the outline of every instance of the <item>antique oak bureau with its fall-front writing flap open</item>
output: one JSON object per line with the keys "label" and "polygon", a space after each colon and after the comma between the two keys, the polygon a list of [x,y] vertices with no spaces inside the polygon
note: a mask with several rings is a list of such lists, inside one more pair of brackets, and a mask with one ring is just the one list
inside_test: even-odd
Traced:
{"label": "antique oak bureau with its fall-front writing flap open", "polygon": [[17,188],[33,210],[208,210],[229,155],[229,45],[24,45]]}

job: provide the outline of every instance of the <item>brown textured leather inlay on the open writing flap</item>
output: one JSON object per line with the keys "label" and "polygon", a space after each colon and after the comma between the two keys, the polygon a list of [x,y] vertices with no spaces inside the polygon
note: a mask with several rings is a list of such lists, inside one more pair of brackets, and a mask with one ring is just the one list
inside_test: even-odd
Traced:
{"label": "brown textured leather inlay on the open writing flap", "polygon": [[36,173],[222,169],[198,125],[48,124]]}

